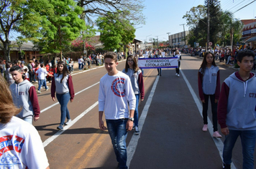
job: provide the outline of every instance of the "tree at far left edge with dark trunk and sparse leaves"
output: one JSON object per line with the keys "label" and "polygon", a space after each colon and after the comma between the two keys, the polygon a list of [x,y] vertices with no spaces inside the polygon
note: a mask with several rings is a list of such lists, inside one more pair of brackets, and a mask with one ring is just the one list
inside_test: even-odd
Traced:
{"label": "tree at far left edge with dark trunk and sparse leaves", "polygon": [[10,33],[26,34],[40,28],[41,18],[34,9],[35,5],[35,1],[27,0],[0,1],[0,48],[3,49],[7,61],[11,61]]}

